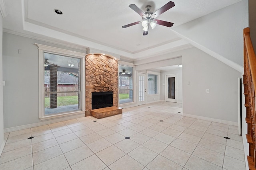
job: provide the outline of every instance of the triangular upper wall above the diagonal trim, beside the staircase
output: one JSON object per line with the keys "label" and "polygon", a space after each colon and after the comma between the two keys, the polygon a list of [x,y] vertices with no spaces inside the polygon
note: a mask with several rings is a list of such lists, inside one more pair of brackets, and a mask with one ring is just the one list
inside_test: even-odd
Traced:
{"label": "triangular upper wall above the diagonal trim, beside the staircase", "polygon": [[[174,27],[173,30],[193,41],[198,48],[205,47],[242,66],[242,33],[245,27],[248,27],[248,0]],[[208,53],[207,50],[203,51]]]}

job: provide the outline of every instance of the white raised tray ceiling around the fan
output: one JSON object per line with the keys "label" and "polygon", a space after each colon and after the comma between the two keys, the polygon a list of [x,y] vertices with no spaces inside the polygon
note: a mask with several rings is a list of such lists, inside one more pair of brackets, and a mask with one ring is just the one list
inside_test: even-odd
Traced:
{"label": "white raised tray ceiling around the fan", "polygon": [[[175,6],[157,19],[173,22],[173,27],[200,18],[241,0],[172,0]],[[142,25],[122,28],[140,21],[129,8],[136,4],[145,11],[161,8],[169,0],[5,0],[7,16],[3,19],[5,32],[29,35],[49,41],[70,43],[82,49],[100,49],[131,59],[152,57],[188,48],[172,27],[157,25],[143,36]],[[58,15],[54,12],[63,12]]]}

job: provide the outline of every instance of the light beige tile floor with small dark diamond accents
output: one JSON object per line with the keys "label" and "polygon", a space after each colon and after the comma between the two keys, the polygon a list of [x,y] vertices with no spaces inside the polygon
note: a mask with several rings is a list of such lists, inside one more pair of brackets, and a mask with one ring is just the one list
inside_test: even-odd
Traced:
{"label": "light beige tile floor with small dark diamond accents", "polygon": [[157,102],[5,133],[0,169],[245,170],[238,127],[181,113]]}

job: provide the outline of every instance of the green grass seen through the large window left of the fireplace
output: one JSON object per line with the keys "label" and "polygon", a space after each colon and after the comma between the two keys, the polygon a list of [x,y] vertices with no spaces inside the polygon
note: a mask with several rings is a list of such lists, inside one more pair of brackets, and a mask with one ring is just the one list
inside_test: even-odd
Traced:
{"label": "green grass seen through the large window left of the fireplace", "polygon": [[[78,96],[62,96],[57,98],[57,107],[78,104]],[[44,107],[50,107],[50,98],[44,98]]]}

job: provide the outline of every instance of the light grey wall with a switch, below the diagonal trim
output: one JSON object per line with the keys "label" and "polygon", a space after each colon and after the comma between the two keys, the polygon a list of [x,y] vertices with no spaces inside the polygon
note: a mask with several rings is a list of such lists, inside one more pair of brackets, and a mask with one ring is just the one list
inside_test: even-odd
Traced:
{"label": "light grey wall with a switch, below the diagonal trim", "polygon": [[238,122],[241,73],[199,49],[187,52],[182,55],[183,113]]}

